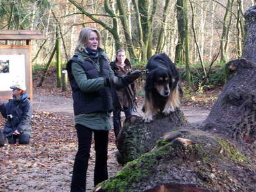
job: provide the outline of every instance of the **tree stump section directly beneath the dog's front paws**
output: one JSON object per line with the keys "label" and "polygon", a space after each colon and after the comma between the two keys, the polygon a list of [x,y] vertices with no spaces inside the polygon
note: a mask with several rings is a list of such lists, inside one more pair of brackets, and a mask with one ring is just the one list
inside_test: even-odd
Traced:
{"label": "tree stump section directly beneath the dog's front paws", "polygon": [[117,161],[125,164],[149,152],[164,133],[175,131],[177,127],[187,124],[183,112],[177,109],[170,115],[159,113],[152,123],[144,123],[142,117],[131,116],[125,122],[117,137]]}

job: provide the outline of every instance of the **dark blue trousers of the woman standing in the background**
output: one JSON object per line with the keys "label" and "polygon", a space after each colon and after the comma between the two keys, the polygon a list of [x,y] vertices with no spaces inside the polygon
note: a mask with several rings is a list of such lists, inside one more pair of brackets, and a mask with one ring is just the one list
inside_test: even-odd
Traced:
{"label": "dark blue trousers of the woman standing in the background", "polygon": [[[123,107],[123,112],[125,113],[125,117],[132,115],[132,109]],[[121,109],[115,108],[113,110],[113,131],[115,132],[115,138],[119,134],[121,130]]]}

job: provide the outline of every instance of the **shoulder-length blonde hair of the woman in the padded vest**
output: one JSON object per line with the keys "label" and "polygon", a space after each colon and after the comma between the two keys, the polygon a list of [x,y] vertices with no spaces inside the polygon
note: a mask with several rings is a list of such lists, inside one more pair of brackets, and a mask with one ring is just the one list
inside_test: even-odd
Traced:
{"label": "shoulder-length blonde hair of the woman in the padded vest", "polygon": [[77,41],[77,46],[75,48],[76,51],[79,51],[79,52],[84,51],[84,49],[86,48],[86,44],[89,40],[90,32],[92,31],[96,32],[98,36],[98,47],[100,47],[100,40],[101,40],[100,32],[96,30],[96,28],[86,27],[80,31],[79,40]]}

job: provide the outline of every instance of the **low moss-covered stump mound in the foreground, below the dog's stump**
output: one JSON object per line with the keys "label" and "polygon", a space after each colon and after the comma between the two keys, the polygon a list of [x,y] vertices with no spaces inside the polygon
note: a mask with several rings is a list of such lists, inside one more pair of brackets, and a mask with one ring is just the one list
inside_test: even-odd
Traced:
{"label": "low moss-covered stump mound in the foreground, below the dog's stump", "polygon": [[234,144],[197,129],[176,133],[179,137],[128,162],[94,191],[255,190],[255,162]]}

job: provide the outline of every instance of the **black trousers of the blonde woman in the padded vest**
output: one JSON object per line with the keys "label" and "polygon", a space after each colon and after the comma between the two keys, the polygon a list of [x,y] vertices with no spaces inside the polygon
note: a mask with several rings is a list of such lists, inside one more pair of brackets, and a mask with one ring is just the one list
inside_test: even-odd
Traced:
{"label": "black trousers of the blonde woman in the padded vest", "polygon": [[94,167],[94,186],[108,179],[108,133],[104,130],[93,130],[84,125],[75,125],[77,129],[77,138],[79,149],[75,156],[73,167],[73,176],[71,181],[71,192],[85,191],[86,189],[86,172],[88,160],[90,157],[90,146],[92,143],[92,132],[95,141],[95,167]]}

